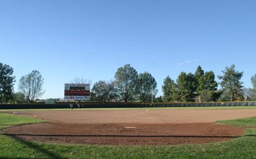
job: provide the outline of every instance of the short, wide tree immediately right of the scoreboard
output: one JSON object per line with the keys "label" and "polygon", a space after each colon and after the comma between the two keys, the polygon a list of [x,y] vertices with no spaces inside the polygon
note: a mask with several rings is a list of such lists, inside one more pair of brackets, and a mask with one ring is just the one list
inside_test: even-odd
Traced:
{"label": "short, wide tree immediately right of the scoreboard", "polygon": [[92,94],[95,101],[108,102],[116,99],[117,93],[114,81],[98,81],[93,85]]}

